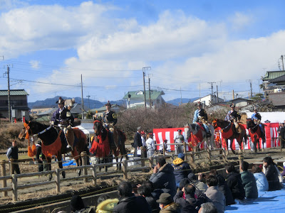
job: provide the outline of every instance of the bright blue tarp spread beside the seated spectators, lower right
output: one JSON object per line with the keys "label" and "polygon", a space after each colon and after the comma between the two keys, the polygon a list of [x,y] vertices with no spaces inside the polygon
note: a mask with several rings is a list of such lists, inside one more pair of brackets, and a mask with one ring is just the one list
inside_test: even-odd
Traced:
{"label": "bright blue tarp spread beside the seated spectators, lower right", "polygon": [[257,200],[245,200],[240,204],[227,206],[225,212],[285,212],[285,189],[259,192]]}

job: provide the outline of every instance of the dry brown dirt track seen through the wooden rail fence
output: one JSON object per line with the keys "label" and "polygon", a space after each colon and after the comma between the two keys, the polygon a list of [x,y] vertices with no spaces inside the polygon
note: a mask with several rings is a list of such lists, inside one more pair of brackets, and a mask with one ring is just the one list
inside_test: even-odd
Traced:
{"label": "dry brown dirt track seen through the wooden rail fence", "polygon": [[[171,155],[172,153],[169,153]],[[274,161],[276,163],[281,163],[285,161],[285,154],[284,152],[280,152],[280,148],[269,148],[266,149],[264,152],[259,152],[259,153],[252,153],[251,151],[246,151],[244,153],[244,160],[246,160],[249,163],[261,163],[262,159],[266,156],[270,155],[272,158],[274,158]],[[1,158],[4,156],[1,155]],[[205,154],[202,154],[201,158],[195,157],[195,164],[190,164],[192,169],[197,171],[204,171],[207,172],[210,169],[209,161],[207,158],[202,158],[205,157]],[[171,163],[171,158],[167,159],[167,162]],[[228,156],[229,162],[239,162],[238,156],[229,154]],[[146,163],[146,165],[148,165]],[[212,165],[224,165],[223,160],[219,160],[219,158],[212,159]],[[140,165],[138,165],[140,166]],[[68,166],[71,167],[71,166]],[[55,170],[58,168],[57,164],[52,164],[52,170]],[[113,168],[108,168],[109,170],[114,170],[115,167]],[[38,165],[35,165],[31,162],[29,163],[22,163],[20,165],[20,170],[21,173],[35,173],[38,171]],[[102,170],[103,171],[103,170]],[[10,170],[9,166],[6,168],[6,175],[9,175]],[[132,182],[142,182],[144,180],[147,180],[147,178],[150,177],[152,171],[149,171],[147,173],[142,173],[142,172],[132,172],[128,173],[128,179]],[[88,170],[88,175],[92,174],[92,170]],[[70,177],[76,177],[76,171],[67,171],[66,172],[66,178]],[[54,178],[54,177],[53,177]],[[62,177],[61,177],[62,178]],[[36,176],[36,177],[31,177],[31,178],[19,178],[18,180],[18,185],[26,185],[30,184],[33,182],[45,182],[48,180],[47,176]],[[120,173],[118,175],[105,175],[101,178],[98,178],[97,180],[97,185],[108,185],[108,186],[115,186],[118,185],[118,183],[123,180],[123,174]],[[7,181],[7,186],[11,186],[11,180]],[[1,186],[3,187],[3,186]],[[71,180],[71,181],[62,181],[61,182],[61,194],[66,193],[66,192],[71,192],[71,191],[78,191],[78,190],[83,190],[86,188],[93,187],[92,180],[88,180],[88,183],[84,183],[83,179],[81,180]],[[1,192],[2,194],[3,192]],[[18,191],[18,202],[24,201],[24,200],[29,200],[29,199],[35,199],[35,198],[41,198],[41,197],[47,197],[50,195],[56,195],[56,183],[54,182],[54,179],[51,181],[51,184],[44,185],[44,186],[38,186],[38,187],[30,187],[26,189],[22,189]],[[1,195],[0,197],[0,205],[1,204],[7,204],[12,202],[12,192],[8,192],[8,197],[4,197]]]}

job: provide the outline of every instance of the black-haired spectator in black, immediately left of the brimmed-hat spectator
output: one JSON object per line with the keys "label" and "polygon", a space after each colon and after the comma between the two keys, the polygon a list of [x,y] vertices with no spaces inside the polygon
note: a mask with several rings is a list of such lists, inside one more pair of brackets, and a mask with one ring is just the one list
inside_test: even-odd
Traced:
{"label": "black-haired spectator in black, immediately left of the brimmed-hat spectator", "polygon": [[142,197],[145,197],[145,200],[150,205],[150,209],[153,212],[160,212],[160,207],[156,202],[155,197],[152,196],[152,186],[147,183],[142,183],[140,187],[138,187],[138,194]]}

